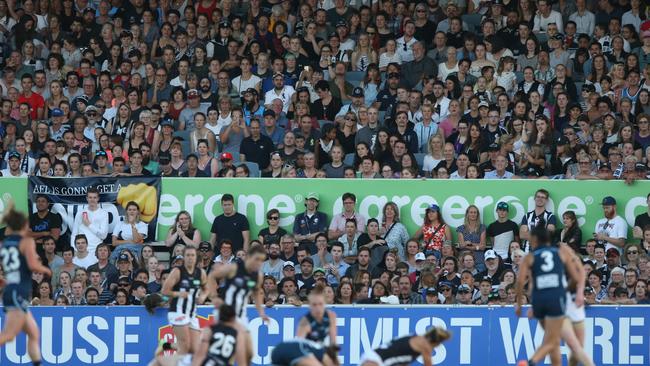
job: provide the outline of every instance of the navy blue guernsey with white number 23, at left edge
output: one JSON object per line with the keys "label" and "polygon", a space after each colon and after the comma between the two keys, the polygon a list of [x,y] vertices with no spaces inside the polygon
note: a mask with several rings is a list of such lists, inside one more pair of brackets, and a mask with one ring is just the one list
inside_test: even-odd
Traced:
{"label": "navy blue guernsey with white number 23, at left edge", "polygon": [[0,259],[7,288],[17,288],[23,294],[32,292],[32,273],[27,259],[20,253],[20,235],[8,235],[0,247]]}

